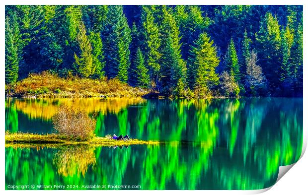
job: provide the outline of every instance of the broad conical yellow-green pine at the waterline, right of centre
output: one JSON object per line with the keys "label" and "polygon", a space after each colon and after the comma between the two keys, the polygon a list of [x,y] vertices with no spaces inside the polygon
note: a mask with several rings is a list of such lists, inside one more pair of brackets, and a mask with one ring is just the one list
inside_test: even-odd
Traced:
{"label": "broad conical yellow-green pine at the waterline, right of centre", "polygon": [[210,95],[211,90],[218,85],[219,77],[215,69],[219,65],[217,48],[213,46],[207,33],[202,33],[196,41],[196,47],[191,47],[188,59],[188,80],[190,88],[198,97]]}

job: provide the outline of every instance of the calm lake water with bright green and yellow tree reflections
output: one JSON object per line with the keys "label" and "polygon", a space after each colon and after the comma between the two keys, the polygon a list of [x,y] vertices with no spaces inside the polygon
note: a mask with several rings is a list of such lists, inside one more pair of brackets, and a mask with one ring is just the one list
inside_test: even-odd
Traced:
{"label": "calm lake water with bright green and yellow tree reflections", "polygon": [[6,147],[5,189],[29,184],[34,189],[256,190],[272,186],[279,166],[295,163],[302,152],[302,98],[10,98],[5,130],[50,133],[61,104],[94,115],[98,136],[129,134],[163,143]]}

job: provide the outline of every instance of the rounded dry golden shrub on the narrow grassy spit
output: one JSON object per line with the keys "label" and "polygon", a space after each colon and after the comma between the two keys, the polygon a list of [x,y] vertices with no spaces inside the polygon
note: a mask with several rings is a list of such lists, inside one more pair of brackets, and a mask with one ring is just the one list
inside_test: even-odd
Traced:
{"label": "rounded dry golden shrub on the narrow grassy spit", "polygon": [[60,106],[53,117],[54,129],[61,135],[75,140],[87,140],[94,136],[96,120],[84,110]]}

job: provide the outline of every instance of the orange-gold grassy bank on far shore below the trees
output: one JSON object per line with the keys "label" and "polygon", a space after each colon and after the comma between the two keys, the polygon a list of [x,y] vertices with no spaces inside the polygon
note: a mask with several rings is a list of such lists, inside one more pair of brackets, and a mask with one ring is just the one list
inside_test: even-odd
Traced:
{"label": "orange-gold grassy bank on far shore below the trees", "polygon": [[15,84],[5,85],[7,97],[141,97],[149,92],[131,87],[117,78],[61,78],[47,71],[30,74]]}

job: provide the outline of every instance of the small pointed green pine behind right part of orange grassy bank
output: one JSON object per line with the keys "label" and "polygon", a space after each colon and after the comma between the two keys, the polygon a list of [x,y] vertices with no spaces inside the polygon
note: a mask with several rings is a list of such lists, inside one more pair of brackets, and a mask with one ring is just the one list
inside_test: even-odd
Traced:
{"label": "small pointed green pine behind right part of orange grassy bank", "polygon": [[150,75],[148,73],[148,68],[145,66],[145,59],[142,55],[140,47],[137,49],[134,64],[136,65],[135,71],[137,75],[136,85],[142,88],[148,88],[150,85]]}

